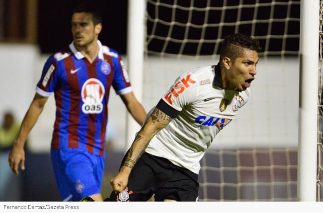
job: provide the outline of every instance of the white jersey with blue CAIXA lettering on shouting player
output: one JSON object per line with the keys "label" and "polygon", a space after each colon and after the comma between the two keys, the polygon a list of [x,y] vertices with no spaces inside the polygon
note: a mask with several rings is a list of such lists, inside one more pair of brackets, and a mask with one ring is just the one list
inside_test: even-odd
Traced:
{"label": "white jersey with blue CAIXA lettering on shouting player", "polygon": [[154,136],[146,152],[198,174],[206,149],[249,95],[249,88],[223,89],[219,65],[183,73],[157,105],[173,119]]}

